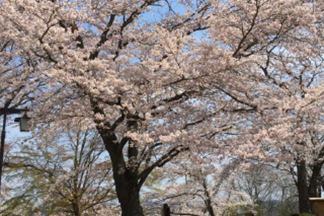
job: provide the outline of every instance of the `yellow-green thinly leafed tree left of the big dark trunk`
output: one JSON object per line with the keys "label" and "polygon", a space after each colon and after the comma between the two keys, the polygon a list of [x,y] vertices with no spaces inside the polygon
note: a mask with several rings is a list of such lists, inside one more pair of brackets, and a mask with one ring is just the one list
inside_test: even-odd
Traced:
{"label": "yellow-green thinly leafed tree left of the big dark trunk", "polygon": [[[11,198],[2,215],[97,215],[116,196],[98,133],[70,131],[25,143],[6,162]],[[18,215],[18,214],[17,214]]]}

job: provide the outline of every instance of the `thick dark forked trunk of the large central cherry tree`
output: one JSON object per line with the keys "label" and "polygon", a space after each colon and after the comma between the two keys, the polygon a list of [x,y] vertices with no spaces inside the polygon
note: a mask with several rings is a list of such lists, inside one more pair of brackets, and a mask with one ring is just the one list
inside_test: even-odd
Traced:
{"label": "thick dark forked trunk of the large central cherry tree", "polygon": [[[91,99],[90,102],[94,113],[104,115],[104,111],[95,100]],[[118,141],[114,133],[118,123],[123,122],[125,118],[126,116],[123,114],[114,124],[111,125],[106,122],[103,126],[101,125],[102,122],[97,121],[97,130],[111,159],[113,179],[122,211],[121,215],[144,216],[139,193],[145,179],[155,167],[164,166],[181,152],[188,151],[189,148],[183,145],[173,147],[157,161],[139,171],[140,162],[138,161],[136,142],[132,143],[132,140],[127,136]],[[139,119],[139,117],[129,116],[128,118],[127,126],[136,128],[137,122],[135,120]],[[131,143],[132,145],[130,145]],[[123,153],[125,146],[128,146],[127,155],[124,154],[125,152]],[[127,158],[127,162],[124,157]]]}

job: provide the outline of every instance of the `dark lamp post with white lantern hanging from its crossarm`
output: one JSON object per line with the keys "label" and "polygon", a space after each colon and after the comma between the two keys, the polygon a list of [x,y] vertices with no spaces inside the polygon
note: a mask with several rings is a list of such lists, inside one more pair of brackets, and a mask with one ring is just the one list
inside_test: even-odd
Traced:
{"label": "dark lamp post with white lantern hanging from its crossarm", "polygon": [[5,153],[5,139],[6,139],[6,122],[7,122],[7,115],[10,114],[19,114],[25,112],[25,115],[21,118],[16,118],[15,122],[20,123],[20,131],[28,131],[29,124],[27,121],[29,118],[26,115],[26,112],[29,111],[26,109],[16,109],[16,108],[9,108],[5,106],[4,108],[0,108],[0,116],[4,115],[4,122],[2,125],[2,132],[1,132],[1,149],[0,149],[0,190],[1,190],[1,182],[2,182],[2,170],[4,165],[4,153]]}

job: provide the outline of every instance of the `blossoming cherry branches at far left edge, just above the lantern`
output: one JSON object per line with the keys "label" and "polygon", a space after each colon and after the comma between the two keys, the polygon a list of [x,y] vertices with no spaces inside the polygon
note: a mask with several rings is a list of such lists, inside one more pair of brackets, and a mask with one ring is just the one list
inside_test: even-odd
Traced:
{"label": "blossoming cherry branches at far left edge, just above the lantern", "polygon": [[0,109],[15,109],[27,105],[43,82],[33,73],[36,62],[12,39],[15,27],[4,16],[0,23]]}

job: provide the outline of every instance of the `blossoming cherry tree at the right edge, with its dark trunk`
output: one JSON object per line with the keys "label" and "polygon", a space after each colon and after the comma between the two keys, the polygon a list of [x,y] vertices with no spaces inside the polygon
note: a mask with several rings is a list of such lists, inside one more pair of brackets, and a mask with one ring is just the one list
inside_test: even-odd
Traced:
{"label": "blossoming cherry tree at the right edge, with its dark trunk", "polygon": [[219,54],[214,48],[211,59],[228,59],[228,69],[214,85],[236,104],[231,111],[241,112],[240,136],[234,140],[245,145],[235,152],[277,163],[293,161],[300,212],[310,212],[308,198],[316,196],[323,161],[322,2],[222,4],[215,9],[210,32],[226,49]]}

